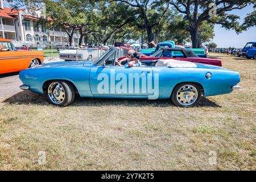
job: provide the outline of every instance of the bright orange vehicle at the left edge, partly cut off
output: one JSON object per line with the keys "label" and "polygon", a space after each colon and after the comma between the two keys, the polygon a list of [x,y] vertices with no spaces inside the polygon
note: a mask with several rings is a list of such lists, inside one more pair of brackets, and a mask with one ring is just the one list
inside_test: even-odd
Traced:
{"label": "bright orange vehicle at the left edge, partly cut off", "polygon": [[41,51],[17,51],[11,40],[0,38],[0,74],[43,64],[43,59],[44,53]]}

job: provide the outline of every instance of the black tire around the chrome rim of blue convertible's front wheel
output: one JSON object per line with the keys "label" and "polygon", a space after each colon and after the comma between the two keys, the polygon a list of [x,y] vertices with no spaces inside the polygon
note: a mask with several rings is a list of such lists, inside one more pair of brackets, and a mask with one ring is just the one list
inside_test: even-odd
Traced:
{"label": "black tire around the chrome rim of blue convertible's front wheel", "polygon": [[[49,86],[53,83],[58,83],[61,85],[61,87],[64,90],[64,99],[63,101],[61,101],[60,103],[54,102],[52,97],[54,96],[50,96],[51,94],[49,94]],[[51,102],[51,104],[53,105],[57,105],[57,106],[67,106],[69,104],[71,104],[74,99],[75,99],[75,89],[73,87],[73,85],[67,81],[63,81],[63,80],[52,80],[48,83],[47,88],[46,88],[46,97],[48,99],[49,102]]]}

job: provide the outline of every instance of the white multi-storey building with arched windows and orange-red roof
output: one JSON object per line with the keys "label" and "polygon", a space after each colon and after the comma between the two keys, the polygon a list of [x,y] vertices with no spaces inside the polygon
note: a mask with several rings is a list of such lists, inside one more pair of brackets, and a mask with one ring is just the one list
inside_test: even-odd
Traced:
{"label": "white multi-storey building with arched windows and orange-red roof", "polygon": [[[3,7],[3,1],[0,0],[0,38],[11,39],[16,47],[67,45],[68,35],[61,28],[47,30],[43,25],[36,26],[35,22],[41,15],[41,11],[12,10]],[[79,31],[76,31],[73,36],[73,46],[78,45],[79,38]]]}

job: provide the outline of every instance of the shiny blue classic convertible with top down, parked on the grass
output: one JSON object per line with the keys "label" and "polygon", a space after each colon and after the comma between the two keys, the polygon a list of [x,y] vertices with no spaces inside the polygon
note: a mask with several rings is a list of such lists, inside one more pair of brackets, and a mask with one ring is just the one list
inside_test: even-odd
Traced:
{"label": "shiny blue classic convertible with top down, parked on the grass", "polygon": [[170,98],[176,106],[192,107],[201,96],[227,94],[239,89],[240,75],[230,69],[179,60],[142,62],[141,67],[115,65],[125,56],[112,47],[94,61],[39,65],[20,72],[21,89],[46,94],[49,102],[67,106],[81,97]]}

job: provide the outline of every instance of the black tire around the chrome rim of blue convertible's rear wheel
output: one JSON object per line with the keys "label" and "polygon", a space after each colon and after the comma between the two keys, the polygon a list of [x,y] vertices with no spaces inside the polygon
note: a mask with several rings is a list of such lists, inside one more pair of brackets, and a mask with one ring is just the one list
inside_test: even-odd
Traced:
{"label": "black tire around the chrome rim of blue convertible's rear wheel", "polygon": [[[182,104],[181,101],[178,100],[180,98],[179,95],[181,96],[181,92],[179,92],[179,91],[181,88],[188,86],[188,85],[192,86],[191,88],[193,88],[193,90],[195,89],[195,92],[193,92],[193,91],[191,91],[191,92],[195,93],[196,97],[193,102],[191,102],[193,99],[191,101],[189,101],[189,102],[191,102],[191,104],[189,104],[189,103],[187,104],[185,102],[183,102],[184,104]],[[184,82],[184,83],[176,85],[172,92],[172,95],[171,95],[172,102],[174,103],[174,105],[176,105],[178,107],[193,107],[200,101],[200,98],[201,98],[201,86],[198,84],[195,84],[195,83],[191,83],[191,82]]]}

